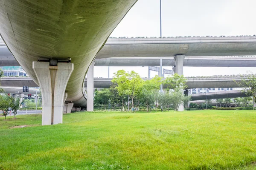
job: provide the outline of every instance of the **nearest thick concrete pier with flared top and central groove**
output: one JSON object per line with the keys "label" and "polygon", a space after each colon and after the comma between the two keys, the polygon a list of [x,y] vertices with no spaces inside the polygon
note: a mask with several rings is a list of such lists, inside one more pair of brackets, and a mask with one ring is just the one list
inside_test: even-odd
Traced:
{"label": "nearest thick concrete pier with flared top and central groove", "polygon": [[74,69],[70,62],[33,62],[42,93],[42,125],[62,123],[64,94]]}

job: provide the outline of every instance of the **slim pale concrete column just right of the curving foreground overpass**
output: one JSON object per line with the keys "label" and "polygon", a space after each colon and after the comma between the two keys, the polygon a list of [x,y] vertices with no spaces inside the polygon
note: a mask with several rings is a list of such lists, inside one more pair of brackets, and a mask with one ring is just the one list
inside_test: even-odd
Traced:
{"label": "slim pale concrete column just right of the curving foreground overpass", "polygon": [[87,71],[87,111],[93,111],[94,64],[95,60],[93,60]]}

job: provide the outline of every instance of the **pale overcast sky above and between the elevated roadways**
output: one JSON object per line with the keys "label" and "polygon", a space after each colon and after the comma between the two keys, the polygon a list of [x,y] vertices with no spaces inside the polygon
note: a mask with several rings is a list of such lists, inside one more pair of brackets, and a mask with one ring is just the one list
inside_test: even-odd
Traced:
{"label": "pale overcast sky above and between the elevated roadways", "polygon": [[[255,6],[256,0],[162,0],[162,36],[253,35]],[[111,34],[111,37],[159,36],[160,0],[138,0]],[[119,69],[148,76],[148,67],[111,67],[110,76]],[[256,73],[256,68],[184,67],[184,75],[246,74],[247,70]],[[94,76],[108,77],[108,67],[95,67]]]}

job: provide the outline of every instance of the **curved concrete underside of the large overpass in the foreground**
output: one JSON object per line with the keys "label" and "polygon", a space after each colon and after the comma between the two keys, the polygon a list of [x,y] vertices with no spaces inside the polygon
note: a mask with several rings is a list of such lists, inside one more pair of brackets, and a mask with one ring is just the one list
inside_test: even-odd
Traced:
{"label": "curved concrete underside of the large overpass in the foreground", "polygon": [[90,63],[136,0],[0,0],[0,34],[13,56],[38,83],[38,57],[68,59],[74,71],[67,101],[85,105],[84,77]]}

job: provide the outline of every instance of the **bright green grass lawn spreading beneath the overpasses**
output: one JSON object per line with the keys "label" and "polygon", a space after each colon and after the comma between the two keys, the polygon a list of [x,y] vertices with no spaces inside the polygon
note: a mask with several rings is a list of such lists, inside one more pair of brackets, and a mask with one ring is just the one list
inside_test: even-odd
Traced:
{"label": "bright green grass lawn spreading beneath the overpasses", "polygon": [[[0,170],[255,170],[256,111],[0,117]],[[10,128],[28,125],[24,128]]]}

